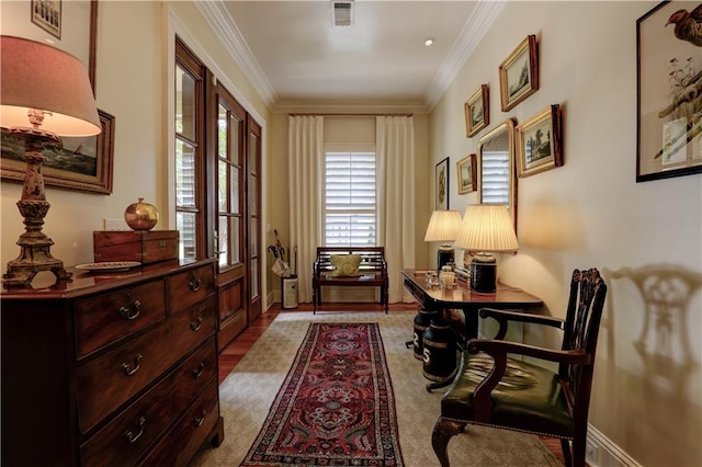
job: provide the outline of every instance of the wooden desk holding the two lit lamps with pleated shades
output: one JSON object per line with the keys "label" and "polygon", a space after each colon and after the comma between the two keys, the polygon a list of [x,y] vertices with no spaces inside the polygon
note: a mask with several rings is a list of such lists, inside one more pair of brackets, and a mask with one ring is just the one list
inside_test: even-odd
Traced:
{"label": "wooden desk holding the two lit lamps with pleated shades", "polygon": [[[458,333],[463,337],[463,348],[468,340],[478,335],[478,310],[480,308],[522,309],[524,312],[539,312],[543,306],[541,298],[535,297],[521,288],[510,287],[501,283],[497,284],[497,292],[492,294],[479,294],[471,291],[467,283],[456,281],[453,288],[428,286],[424,281],[426,270],[403,270],[405,287],[424,307],[424,309],[442,310],[445,316],[448,310],[460,309],[463,311],[463,329]],[[455,326],[456,320],[446,317]],[[444,381],[430,384],[427,389],[446,386],[453,380],[453,375]]]}

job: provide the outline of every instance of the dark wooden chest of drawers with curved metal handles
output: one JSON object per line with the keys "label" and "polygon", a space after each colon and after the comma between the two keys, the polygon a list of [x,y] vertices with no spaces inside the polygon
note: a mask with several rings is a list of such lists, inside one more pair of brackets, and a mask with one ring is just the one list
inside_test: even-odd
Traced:
{"label": "dark wooden chest of drawers with curved metal handles", "polygon": [[2,465],[178,466],[218,446],[214,261],[69,270],[2,291]]}

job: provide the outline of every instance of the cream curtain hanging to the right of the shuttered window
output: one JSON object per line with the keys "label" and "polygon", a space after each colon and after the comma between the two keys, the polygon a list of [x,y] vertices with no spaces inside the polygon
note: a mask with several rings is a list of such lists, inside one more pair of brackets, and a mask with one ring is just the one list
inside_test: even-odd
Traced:
{"label": "cream curtain hanging to the right of the shuttered window", "polygon": [[415,267],[415,118],[376,117],[380,244],[385,246],[389,301],[411,303],[400,270]]}

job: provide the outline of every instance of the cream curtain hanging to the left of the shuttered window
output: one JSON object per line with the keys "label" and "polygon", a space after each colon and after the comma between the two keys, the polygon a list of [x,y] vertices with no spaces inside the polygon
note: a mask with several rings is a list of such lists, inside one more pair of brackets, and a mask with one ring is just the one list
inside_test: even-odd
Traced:
{"label": "cream curtain hanging to the left of the shuttered window", "polygon": [[290,241],[297,247],[297,299],[312,301],[312,266],[321,244],[324,117],[287,118]]}

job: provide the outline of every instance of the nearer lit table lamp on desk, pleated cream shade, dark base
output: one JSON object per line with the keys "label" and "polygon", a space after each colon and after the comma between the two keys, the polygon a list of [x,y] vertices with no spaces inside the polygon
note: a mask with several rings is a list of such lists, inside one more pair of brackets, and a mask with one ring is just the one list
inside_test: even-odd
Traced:
{"label": "nearer lit table lamp on desk, pleated cream shade, dark base", "polygon": [[[471,289],[478,293],[497,291],[497,259],[491,253],[511,253],[519,249],[514,224],[507,206],[497,204],[468,206],[456,235],[455,244],[476,253],[469,265]],[[467,264],[466,267],[468,267]]]}

